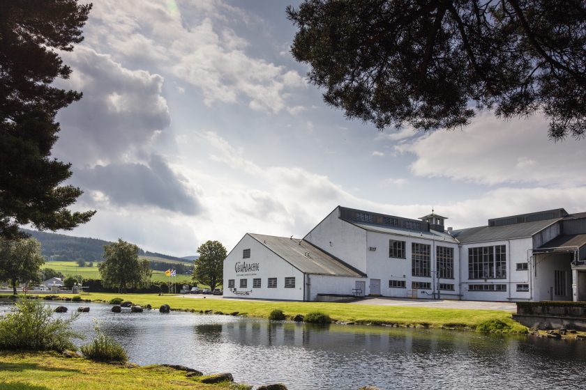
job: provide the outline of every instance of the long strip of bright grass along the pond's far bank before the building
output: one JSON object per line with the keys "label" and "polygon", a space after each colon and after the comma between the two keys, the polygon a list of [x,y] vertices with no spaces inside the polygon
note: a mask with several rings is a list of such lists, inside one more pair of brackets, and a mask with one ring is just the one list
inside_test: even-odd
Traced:
{"label": "long strip of bright grass along the pond's far bank before the building", "polygon": [[[63,295],[65,297],[65,295]],[[435,309],[426,307],[407,306],[370,306],[354,305],[333,302],[254,302],[238,299],[190,299],[186,297],[167,295],[160,297],[156,294],[110,294],[91,293],[84,295],[84,299],[108,302],[114,297],[122,297],[142,306],[151,304],[158,308],[162,304],[169,304],[174,310],[183,311],[213,311],[224,314],[238,312],[239,315],[269,318],[274,309],[283,310],[287,318],[294,315],[306,315],[311,311],[322,311],[329,314],[332,320],[355,322],[356,324],[386,325],[398,324],[401,326],[447,327],[458,329],[476,329],[490,321],[504,322],[513,333],[526,333],[527,328],[513,321],[511,313],[497,310],[472,309]]]}

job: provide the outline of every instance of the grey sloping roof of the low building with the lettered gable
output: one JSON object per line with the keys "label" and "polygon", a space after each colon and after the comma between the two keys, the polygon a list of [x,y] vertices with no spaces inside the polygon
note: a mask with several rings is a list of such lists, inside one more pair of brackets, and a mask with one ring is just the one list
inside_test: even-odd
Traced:
{"label": "grey sloping roof of the low building with the lettered gable", "polygon": [[366,276],[364,272],[322,251],[306,240],[253,233],[248,233],[248,235],[305,274]]}

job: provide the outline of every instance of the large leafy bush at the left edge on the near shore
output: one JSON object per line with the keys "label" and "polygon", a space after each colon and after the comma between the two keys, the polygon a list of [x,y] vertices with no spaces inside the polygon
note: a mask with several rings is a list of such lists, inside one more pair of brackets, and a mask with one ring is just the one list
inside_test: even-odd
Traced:
{"label": "large leafy bush at the left edge on the near shore", "polygon": [[0,320],[0,350],[77,350],[71,339],[82,336],[70,327],[76,318],[55,320],[49,306],[24,299]]}

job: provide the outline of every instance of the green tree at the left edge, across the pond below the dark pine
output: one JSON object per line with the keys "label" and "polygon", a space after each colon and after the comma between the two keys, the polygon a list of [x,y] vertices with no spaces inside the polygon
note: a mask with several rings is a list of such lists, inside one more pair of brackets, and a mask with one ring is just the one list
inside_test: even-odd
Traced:
{"label": "green tree at the left edge, across the pond below the dark pine", "polygon": [[19,283],[39,280],[43,263],[40,243],[34,238],[0,238],[0,280],[10,281],[15,295]]}

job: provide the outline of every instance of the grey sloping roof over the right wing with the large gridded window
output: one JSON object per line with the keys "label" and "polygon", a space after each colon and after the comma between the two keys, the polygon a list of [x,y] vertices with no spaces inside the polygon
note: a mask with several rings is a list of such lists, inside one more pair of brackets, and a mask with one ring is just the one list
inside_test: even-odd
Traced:
{"label": "grey sloping roof over the right wing with the large gridded window", "polygon": [[477,228],[453,231],[452,235],[463,244],[467,242],[510,240],[513,238],[531,237],[555,221],[559,221],[559,218],[504,226],[479,226]]}

